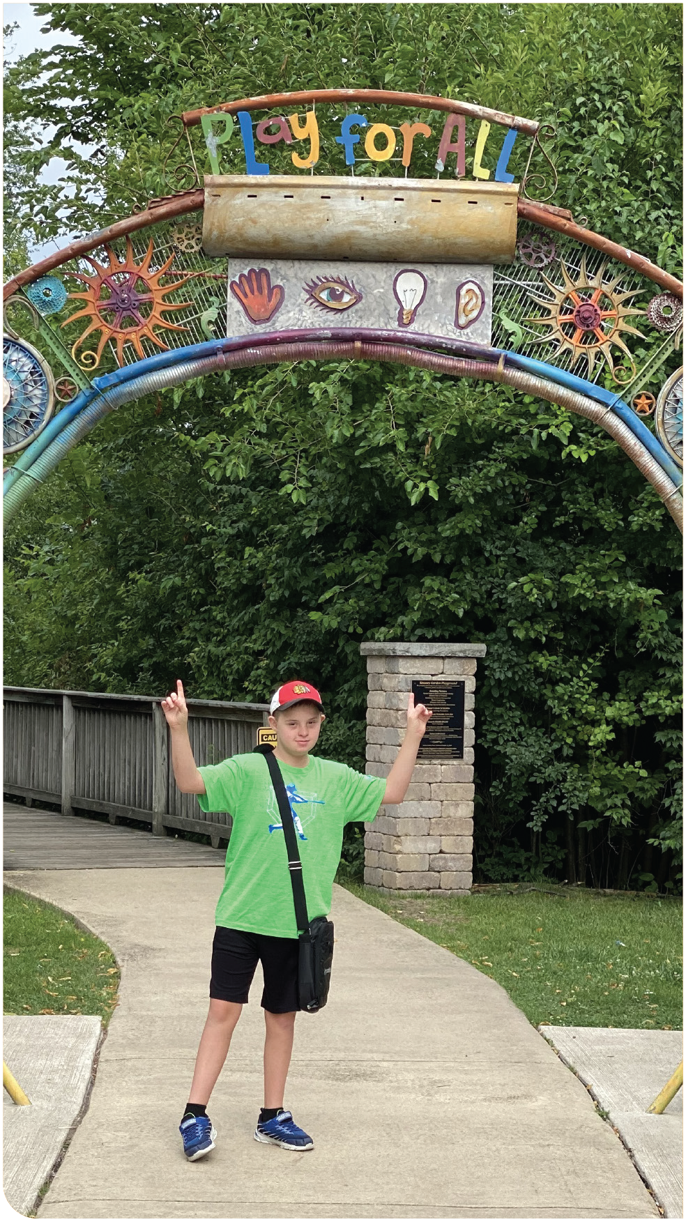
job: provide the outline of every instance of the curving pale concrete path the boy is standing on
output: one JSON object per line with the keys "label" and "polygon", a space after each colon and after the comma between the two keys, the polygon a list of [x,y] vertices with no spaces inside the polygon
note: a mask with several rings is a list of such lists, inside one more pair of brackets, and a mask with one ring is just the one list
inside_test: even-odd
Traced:
{"label": "curving pale concrete path the boy is standing on", "polygon": [[40,1218],[649,1218],[582,1083],[470,964],[334,888],[326,1009],[298,1018],[286,1106],[315,1139],[253,1140],[258,982],[213,1096],[216,1150],[177,1124],[207,1012],[223,870],[15,871],[114,949],[121,1003]]}

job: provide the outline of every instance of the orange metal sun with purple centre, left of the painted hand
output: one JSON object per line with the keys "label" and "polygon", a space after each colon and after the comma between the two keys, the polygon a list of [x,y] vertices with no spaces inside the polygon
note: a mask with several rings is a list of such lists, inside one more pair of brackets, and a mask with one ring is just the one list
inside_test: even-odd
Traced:
{"label": "orange metal sun with purple centre, left of the painted hand", "polygon": [[[70,293],[70,298],[82,298],[86,306],[62,323],[62,326],[67,326],[77,318],[89,319],[88,326],[71,349],[72,357],[79,359],[79,364],[89,369],[95,369],[99,365],[108,340],[112,340],[116,346],[120,365],[124,363],[124,346],[126,343],[131,343],[141,358],[146,356],[141,345],[143,338],[152,341],[158,348],[166,349],[169,346],[155,334],[155,327],[186,331],[186,326],[171,323],[163,315],[169,310],[191,307],[191,302],[165,302],[165,297],[176,288],[181,288],[187,282],[188,276],[182,276],[172,285],[163,286],[161,281],[170,274],[169,269],[174,263],[175,254],[171,254],[158,271],[152,271],[152,238],[139,264],[133,258],[131,238],[126,240],[126,258],[124,260],[117,259],[111,247],[105,246],[104,249],[109,266],[103,266],[87,254],[84,259],[93,268],[94,275],[87,276],[79,271],[71,273],[76,280],[81,280],[86,285],[86,292]],[[77,348],[94,331],[101,332],[97,351],[83,352],[81,358],[77,358]]]}

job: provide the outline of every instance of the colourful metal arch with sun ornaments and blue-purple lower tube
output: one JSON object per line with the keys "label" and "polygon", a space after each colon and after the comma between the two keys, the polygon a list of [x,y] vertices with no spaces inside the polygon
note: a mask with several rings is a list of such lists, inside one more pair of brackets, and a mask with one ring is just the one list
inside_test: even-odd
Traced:
{"label": "colourful metal arch with sun ornaments and blue-purple lower tube", "polygon": [[[271,95],[215,109],[271,109],[286,101],[319,100],[320,92],[317,93],[317,99],[312,93]],[[369,94],[367,100],[432,105],[443,110],[459,110],[465,105],[448,99],[418,99],[411,94],[395,97],[378,92],[377,98],[377,92],[369,90],[357,90],[355,97],[350,90],[326,93],[345,94],[349,100],[358,100],[358,94],[364,93]],[[183,120],[197,123],[199,117],[198,111]],[[511,126],[528,123],[532,131],[538,127],[514,116],[500,119]],[[575,224],[571,214],[562,209],[520,198],[517,215],[525,229],[520,231],[517,262],[514,266],[494,269],[494,346],[470,343],[462,335],[452,338],[415,330],[399,335],[393,330],[350,325],[223,337],[215,336],[214,329],[225,303],[226,265],[225,260],[203,255],[197,225],[203,208],[202,189],[153,200],[144,211],[70,243],[4,286],[4,352],[10,374],[13,375],[20,358],[31,363],[33,353],[32,375],[38,384],[42,370],[45,379],[43,400],[38,392],[40,387],[33,398],[24,395],[23,415],[17,411],[12,418],[18,440],[9,450],[24,445],[27,448],[4,475],[5,523],[64,455],[98,420],[125,402],[220,369],[340,357],[389,360],[452,376],[505,382],[594,420],[643,472],[682,529],[680,371],[668,370],[660,395],[644,392],[665,365],[675,363],[674,353],[681,336],[682,286],[674,276]],[[152,232],[143,235],[146,230]],[[57,269],[60,276],[54,275]],[[65,280],[73,286],[70,293]],[[220,293],[218,282],[221,282]],[[109,285],[106,303],[99,296],[104,284]],[[608,345],[605,363],[600,359],[594,365],[588,346],[585,348],[575,341],[576,332],[570,336],[569,315],[562,314],[562,308],[569,309],[564,302],[580,286],[592,288],[593,293],[585,297],[583,292],[577,292],[574,298],[577,309],[583,306],[591,309],[604,295],[605,304],[611,306],[607,313],[614,310],[618,326],[613,342],[625,360],[621,379]],[[662,292],[655,292],[654,286]],[[652,293],[652,299],[647,307],[635,308],[642,293]],[[532,319],[527,312],[536,302],[548,313]],[[7,309],[17,304],[29,312],[34,342],[50,348],[64,368],[55,387],[50,385],[49,370],[35,346],[22,340],[7,319]],[[61,320],[60,315],[75,306],[76,314]],[[593,309],[598,313],[596,306]],[[653,331],[648,337],[649,356],[640,370],[626,343],[633,334],[632,325],[626,321],[630,313],[647,319]],[[126,319],[132,325],[125,326]],[[83,320],[87,330],[77,335]],[[635,320],[632,318],[631,323]],[[588,326],[592,321],[589,314]],[[582,330],[585,325],[582,319]],[[575,326],[578,330],[578,320]],[[64,343],[65,327],[72,341],[71,352]],[[89,334],[99,336],[97,352],[82,351],[82,341]],[[603,334],[598,334],[594,348],[600,351]],[[542,345],[554,347],[549,360],[538,359]],[[101,359],[109,370],[92,378]],[[598,384],[602,373],[605,382],[614,378],[616,390]],[[18,373],[15,381],[21,381],[21,376]],[[4,397],[10,403],[4,407],[11,407],[12,386],[5,391]],[[65,406],[50,419],[54,391]],[[657,435],[641,418],[641,413],[651,413],[655,398]],[[28,440],[21,435],[22,429]]]}

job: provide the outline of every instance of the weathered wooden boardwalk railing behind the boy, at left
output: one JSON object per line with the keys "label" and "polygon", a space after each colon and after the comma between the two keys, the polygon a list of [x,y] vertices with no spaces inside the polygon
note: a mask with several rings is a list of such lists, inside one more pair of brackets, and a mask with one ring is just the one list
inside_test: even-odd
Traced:
{"label": "weathered wooden boardwalk railing behind the boy, at left", "polygon": [[[62,814],[93,810],[165,829],[202,832],[214,848],[229,840],[229,814],[203,815],[179,793],[169,763],[161,697],[100,695],[44,688],[2,689],[7,797],[59,803]],[[188,733],[198,764],[249,752],[269,705],[190,700]]]}

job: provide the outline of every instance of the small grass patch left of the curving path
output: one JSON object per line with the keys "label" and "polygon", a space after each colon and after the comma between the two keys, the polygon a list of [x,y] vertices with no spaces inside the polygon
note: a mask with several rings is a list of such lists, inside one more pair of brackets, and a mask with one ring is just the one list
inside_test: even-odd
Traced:
{"label": "small grass patch left of the curving path", "polygon": [[98,1014],[109,1022],[119,989],[109,946],[23,891],[5,892],[2,924],[5,1014]]}

